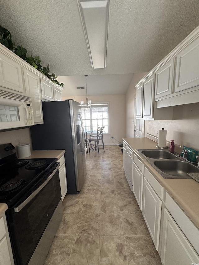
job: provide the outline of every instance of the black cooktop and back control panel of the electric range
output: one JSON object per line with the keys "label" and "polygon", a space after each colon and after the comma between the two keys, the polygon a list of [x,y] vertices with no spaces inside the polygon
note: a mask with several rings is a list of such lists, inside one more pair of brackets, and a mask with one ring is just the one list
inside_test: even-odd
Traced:
{"label": "black cooktop and back control panel of the electric range", "polygon": [[56,163],[57,158],[17,159],[12,144],[0,145],[0,203],[13,206]]}

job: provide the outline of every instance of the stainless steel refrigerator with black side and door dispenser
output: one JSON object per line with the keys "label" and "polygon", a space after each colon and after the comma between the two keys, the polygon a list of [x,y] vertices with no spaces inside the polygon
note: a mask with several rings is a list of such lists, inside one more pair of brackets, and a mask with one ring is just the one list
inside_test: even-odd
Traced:
{"label": "stainless steel refrigerator with black side and door dispenser", "polygon": [[31,126],[33,150],[66,150],[67,193],[81,190],[86,176],[81,104],[70,99],[42,102],[44,124]]}

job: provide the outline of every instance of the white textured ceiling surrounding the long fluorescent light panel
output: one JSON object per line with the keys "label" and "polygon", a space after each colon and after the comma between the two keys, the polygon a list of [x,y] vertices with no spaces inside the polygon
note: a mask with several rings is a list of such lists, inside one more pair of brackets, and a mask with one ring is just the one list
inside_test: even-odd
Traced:
{"label": "white textured ceiling surrounding the long fluorescent light panel", "polygon": [[110,0],[104,69],[91,68],[76,0],[1,0],[0,25],[59,76],[132,74],[150,71],[199,25],[199,4]]}

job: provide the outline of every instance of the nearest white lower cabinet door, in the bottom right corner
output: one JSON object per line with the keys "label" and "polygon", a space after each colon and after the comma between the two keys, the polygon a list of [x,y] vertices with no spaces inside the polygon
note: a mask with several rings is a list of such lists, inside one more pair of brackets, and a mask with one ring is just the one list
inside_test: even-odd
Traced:
{"label": "nearest white lower cabinet door, in the bottom right corner", "polygon": [[168,210],[164,209],[161,262],[163,265],[198,264],[199,256]]}

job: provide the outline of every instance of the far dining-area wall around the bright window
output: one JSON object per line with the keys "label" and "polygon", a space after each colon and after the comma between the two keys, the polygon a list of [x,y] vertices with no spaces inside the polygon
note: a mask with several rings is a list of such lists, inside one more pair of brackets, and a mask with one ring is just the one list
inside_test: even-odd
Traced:
{"label": "far dining-area wall around the bright window", "polygon": [[[77,102],[81,100],[86,101],[85,96],[68,96],[62,97],[62,100],[73,99]],[[94,102],[109,102],[109,132],[110,134],[104,135],[104,144],[113,144],[110,136],[113,136],[119,142],[125,137],[125,95],[92,95],[88,99]],[[113,139],[117,144],[118,142]]]}

